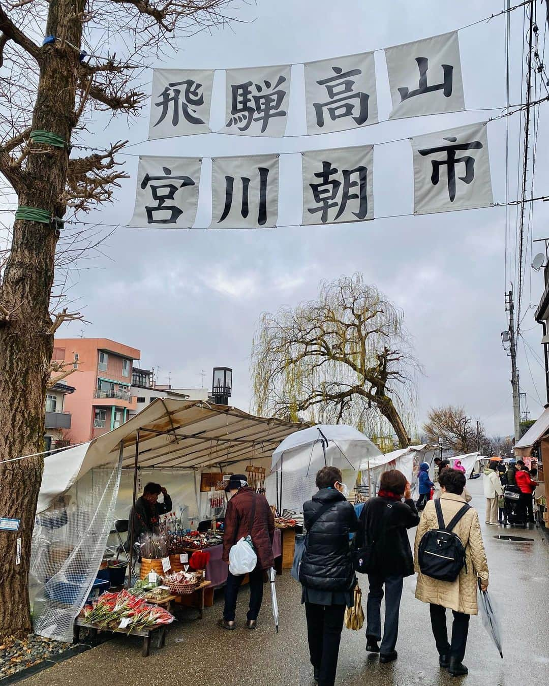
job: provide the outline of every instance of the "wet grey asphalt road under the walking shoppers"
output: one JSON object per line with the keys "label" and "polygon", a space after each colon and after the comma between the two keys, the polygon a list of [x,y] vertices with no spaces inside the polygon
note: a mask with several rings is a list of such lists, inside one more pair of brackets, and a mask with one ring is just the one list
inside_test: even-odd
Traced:
{"label": "wet grey asphalt road under the walking shoppers", "polygon": [[[480,617],[471,617],[465,664],[469,675],[451,678],[441,670],[432,637],[428,605],[414,598],[415,578],[404,580],[401,602],[399,658],[379,665],[364,651],[364,630],[343,629],[336,684],[362,686],[443,686],[463,681],[467,686],[537,686],[549,683],[549,537],[528,530],[484,525],[482,478],[467,488],[480,512],[490,568],[491,595],[498,603],[504,630],[504,659],[488,638]],[[497,534],[526,536],[534,541],[508,543]],[[364,578],[361,587],[365,591]],[[222,611],[222,593],[202,622],[194,612],[182,615],[167,635],[163,650],[141,657],[141,639],[118,637],[65,663],[25,680],[25,686],[84,686],[115,682],[122,685],[171,686],[314,686],[305,634],[301,587],[288,572],[277,580],[281,626],[274,632],[270,594],[255,632],[244,626],[247,589],[240,593],[240,626],[227,632],[215,626]],[[365,594],[364,594],[365,595]],[[365,598],[363,598],[365,605]]]}

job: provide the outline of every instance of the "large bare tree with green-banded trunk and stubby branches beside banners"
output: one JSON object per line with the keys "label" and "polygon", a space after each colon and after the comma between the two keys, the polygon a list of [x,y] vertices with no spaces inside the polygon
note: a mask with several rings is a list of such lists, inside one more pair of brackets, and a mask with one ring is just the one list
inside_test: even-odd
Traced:
{"label": "large bare tree with green-banded trunk and stubby branches beside banners", "polygon": [[[54,333],[78,313],[51,318],[63,219],[108,202],[125,176],[82,132],[94,110],[135,115],[142,68],[170,40],[222,23],[227,0],[12,0],[0,5],[0,174],[19,206],[0,260],[0,636],[31,629],[28,569],[43,472],[45,392]],[[145,75],[148,80],[148,75]],[[55,370],[54,370],[55,371]],[[20,456],[23,460],[10,461]],[[16,553],[21,539],[21,559]]]}

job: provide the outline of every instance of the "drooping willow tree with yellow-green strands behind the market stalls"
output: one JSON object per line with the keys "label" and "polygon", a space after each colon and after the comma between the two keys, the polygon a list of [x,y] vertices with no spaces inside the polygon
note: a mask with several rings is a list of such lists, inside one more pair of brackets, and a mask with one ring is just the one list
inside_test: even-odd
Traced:
{"label": "drooping willow tree with yellow-green strands behind the market stalls", "polygon": [[403,313],[362,274],[320,283],[318,300],[263,314],[252,351],[258,414],[392,427],[410,445],[414,376]]}

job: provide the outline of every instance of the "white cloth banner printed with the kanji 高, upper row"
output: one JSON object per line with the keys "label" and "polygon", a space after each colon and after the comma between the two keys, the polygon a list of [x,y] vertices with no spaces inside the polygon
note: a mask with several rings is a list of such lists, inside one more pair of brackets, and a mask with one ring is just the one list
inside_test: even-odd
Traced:
{"label": "white cloth banner printed with the kanji \u9ad8, upper row", "polygon": [[305,63],[307,134],[377,123],[373,52]]}

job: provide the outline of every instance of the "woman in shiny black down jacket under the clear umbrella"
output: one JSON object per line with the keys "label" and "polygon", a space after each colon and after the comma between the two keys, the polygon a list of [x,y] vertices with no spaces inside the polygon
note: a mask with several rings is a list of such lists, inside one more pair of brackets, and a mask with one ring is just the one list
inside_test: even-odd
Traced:
{"label": "woman in shiny black down jacket under the clear umbrella", "polygon": [[320,686],[334,686],[343,615],[353,605],[355,572],[349,534],[357,530],[358,519],[343,495],[348,491],[341,480],[337,467],[323,467],[316,475],[318,493],[303,505],[308,538],[299,569],[301,602],[314,680]]}

